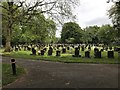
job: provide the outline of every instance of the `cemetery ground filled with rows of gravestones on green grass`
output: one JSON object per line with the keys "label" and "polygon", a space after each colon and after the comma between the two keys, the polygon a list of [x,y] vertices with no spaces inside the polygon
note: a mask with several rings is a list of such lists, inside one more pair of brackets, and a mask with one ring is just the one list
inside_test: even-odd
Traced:
{"label": "cemetery ground filled with rows of gravestones on green grass", "polygon": [[[19,48],[16,51],[16,47],[13,46],[13,51],[11,53],[3,53],[3,56],[10,56],[14,58],[22,57],[25,59],[46,60],[66,63],[120,63],[120,60],[118,59],[119,52],[115,50],[116,48],[119,49],[119,47],[108,47],[107,50],[103,49],[104,46],[92,44],[33,45],[33,47],[31,46],[29,49],[26,45],[19,45],[18,47]],[[71,49],[67,49],[68,47]]]}

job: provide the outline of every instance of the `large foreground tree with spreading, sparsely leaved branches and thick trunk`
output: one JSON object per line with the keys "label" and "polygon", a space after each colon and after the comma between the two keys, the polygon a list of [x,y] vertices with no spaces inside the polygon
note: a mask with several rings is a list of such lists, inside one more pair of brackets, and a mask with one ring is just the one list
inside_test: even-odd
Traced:
{"label": "large foreground tree with spreading, sparsely leaved branches and thick trunk", "polygon": [[[27,23],[33,15],[39,13],[46,13],[52,16],[52,18],[58,19],[58,16],[71,17],[72,7],[75,6],[77,0],[35,0],[33,2],[28,2],[27,0],[7,0],[6,2],[0,2],[0,7],[3,10],[3,19],[5,21],[5,51],[10,52],[11,48],[11,37],[12,30],[14,30],[14,25],[19,24],[24,21]],[[37,12],[36,10],[39,10]],[[53,17],[54,16],[54,17]]]}

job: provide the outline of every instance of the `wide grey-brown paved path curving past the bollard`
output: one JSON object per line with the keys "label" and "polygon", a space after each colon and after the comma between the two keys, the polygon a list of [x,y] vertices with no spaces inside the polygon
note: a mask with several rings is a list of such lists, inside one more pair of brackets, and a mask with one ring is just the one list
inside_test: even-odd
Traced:
{"label": "wide grey-brown paved path curving past the bollard", "polygon": [[[4,63],[10,58],[3,57]],[[3,88],[117,88],[118,64],[60,63],[16,59],[26,74]]]}

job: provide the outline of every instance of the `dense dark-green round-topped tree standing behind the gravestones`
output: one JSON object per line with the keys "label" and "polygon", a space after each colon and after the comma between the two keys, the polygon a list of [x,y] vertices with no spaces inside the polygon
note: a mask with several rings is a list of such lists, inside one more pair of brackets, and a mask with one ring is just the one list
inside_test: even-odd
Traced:
{"label": "dense dark-green round-topped tree standing behind the gravestones", "polygon": [[82,37],[82,29],[75,22],[65,23],[62,27],[61,41],[62,43],[80,43]]}

